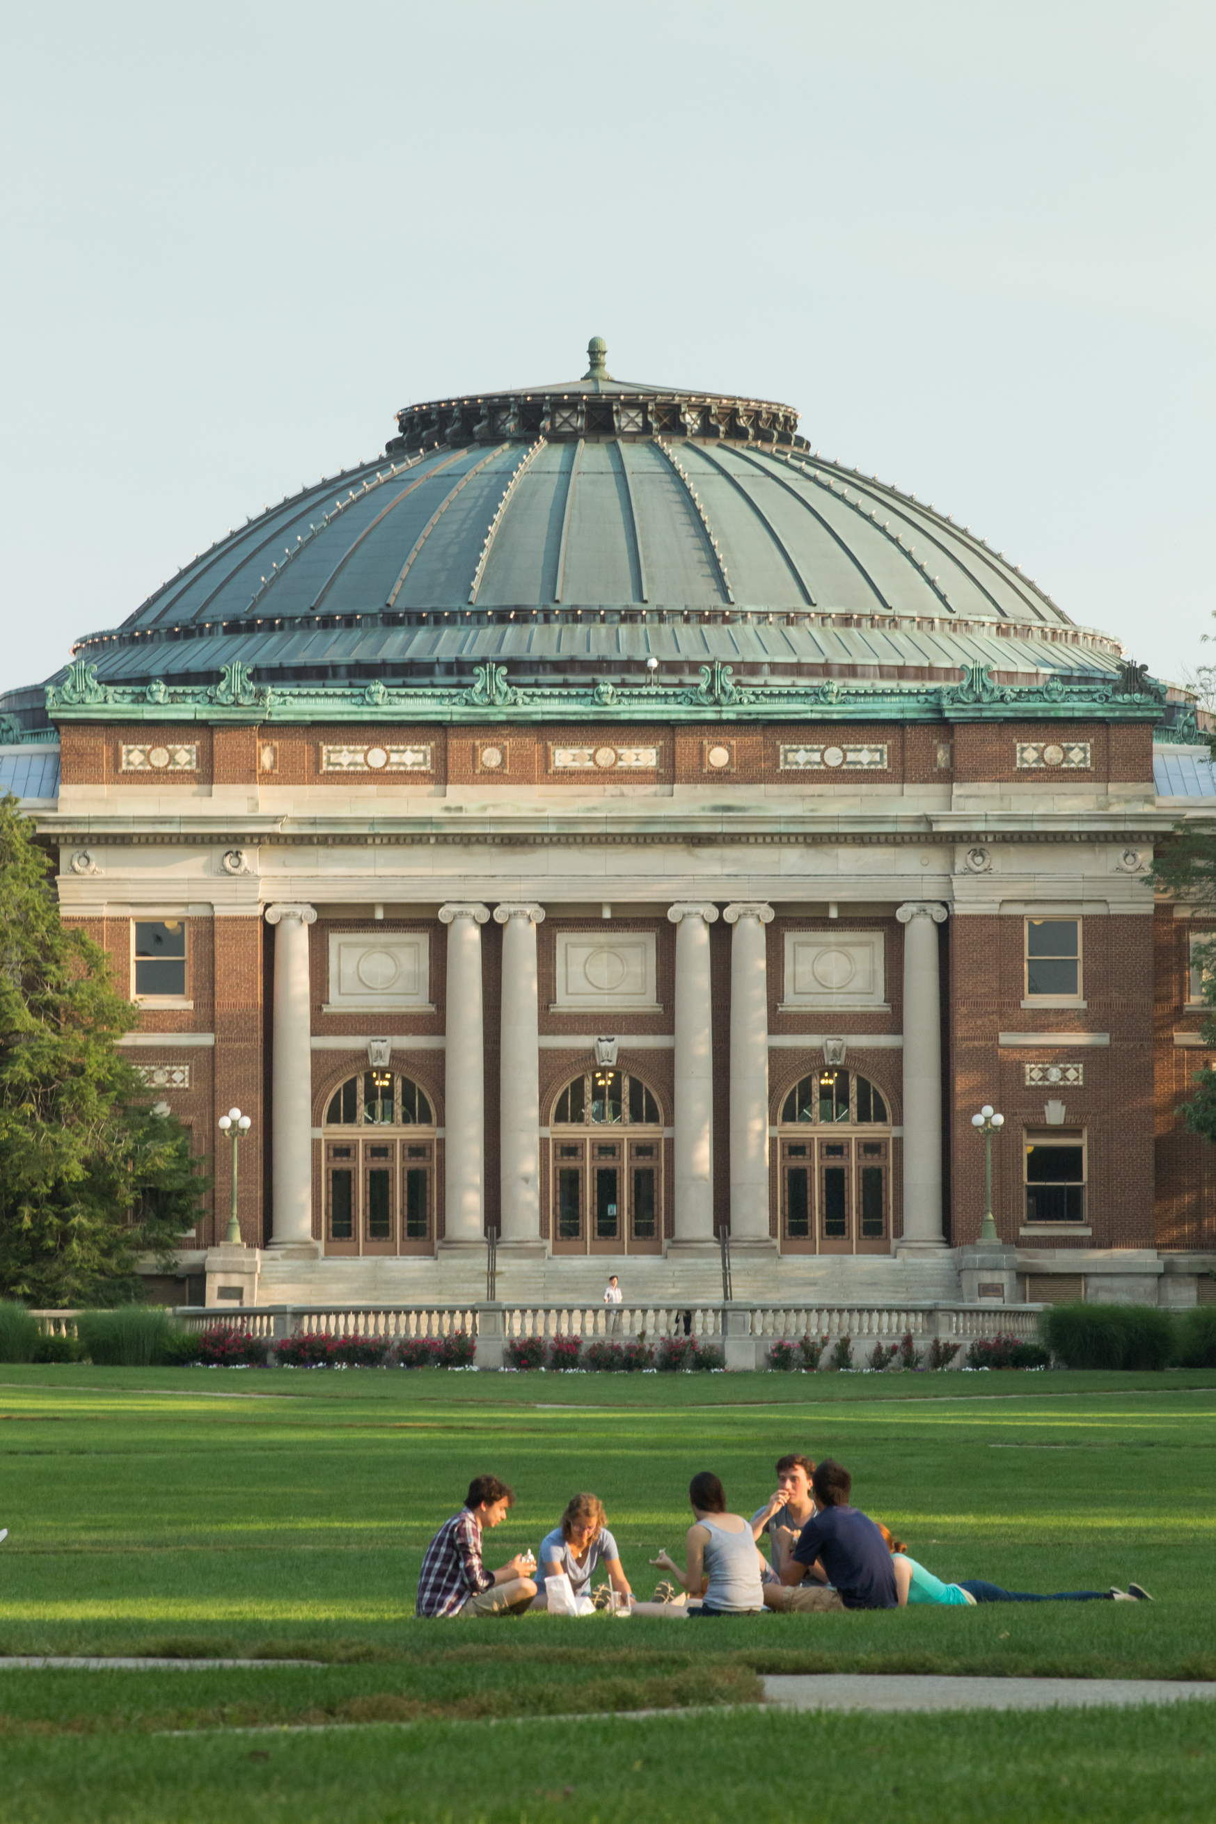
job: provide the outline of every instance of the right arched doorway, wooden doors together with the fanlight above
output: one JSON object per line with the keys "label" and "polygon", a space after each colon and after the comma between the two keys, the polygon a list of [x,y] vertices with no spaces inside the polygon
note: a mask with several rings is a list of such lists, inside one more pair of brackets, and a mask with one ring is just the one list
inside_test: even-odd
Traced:
{"label": "right arched doorway, wooden doors together with the fanlight above", "polygon": [[786,1253],[890,1251],[890,1124],[881,1089],[857,1071],[824,1065],[793,1085],[778,1145]]}

